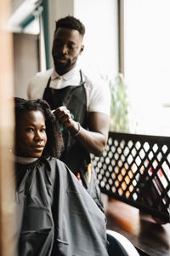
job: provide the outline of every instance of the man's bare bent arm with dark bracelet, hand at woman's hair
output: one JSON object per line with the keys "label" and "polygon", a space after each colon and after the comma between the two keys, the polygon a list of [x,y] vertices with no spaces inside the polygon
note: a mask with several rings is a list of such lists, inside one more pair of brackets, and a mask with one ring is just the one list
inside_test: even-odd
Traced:
{"label": "man's bare bent arm with dark bracelet, hand at woman's hair", "polygon": [[[88,113],[88,130],[78,126],[77,122],[71,119],[70,111],[64,106],[55,110],[55,116],[65,129],[70,131],[77,142],[82,144],[89,153],[100,155],[107,143],[110,116],[106,113]],[[78,130],[80,131],[78,132]],[[77,133],[78,132],[78,133]],[[76,135],[76,136],[75,136]]]}

